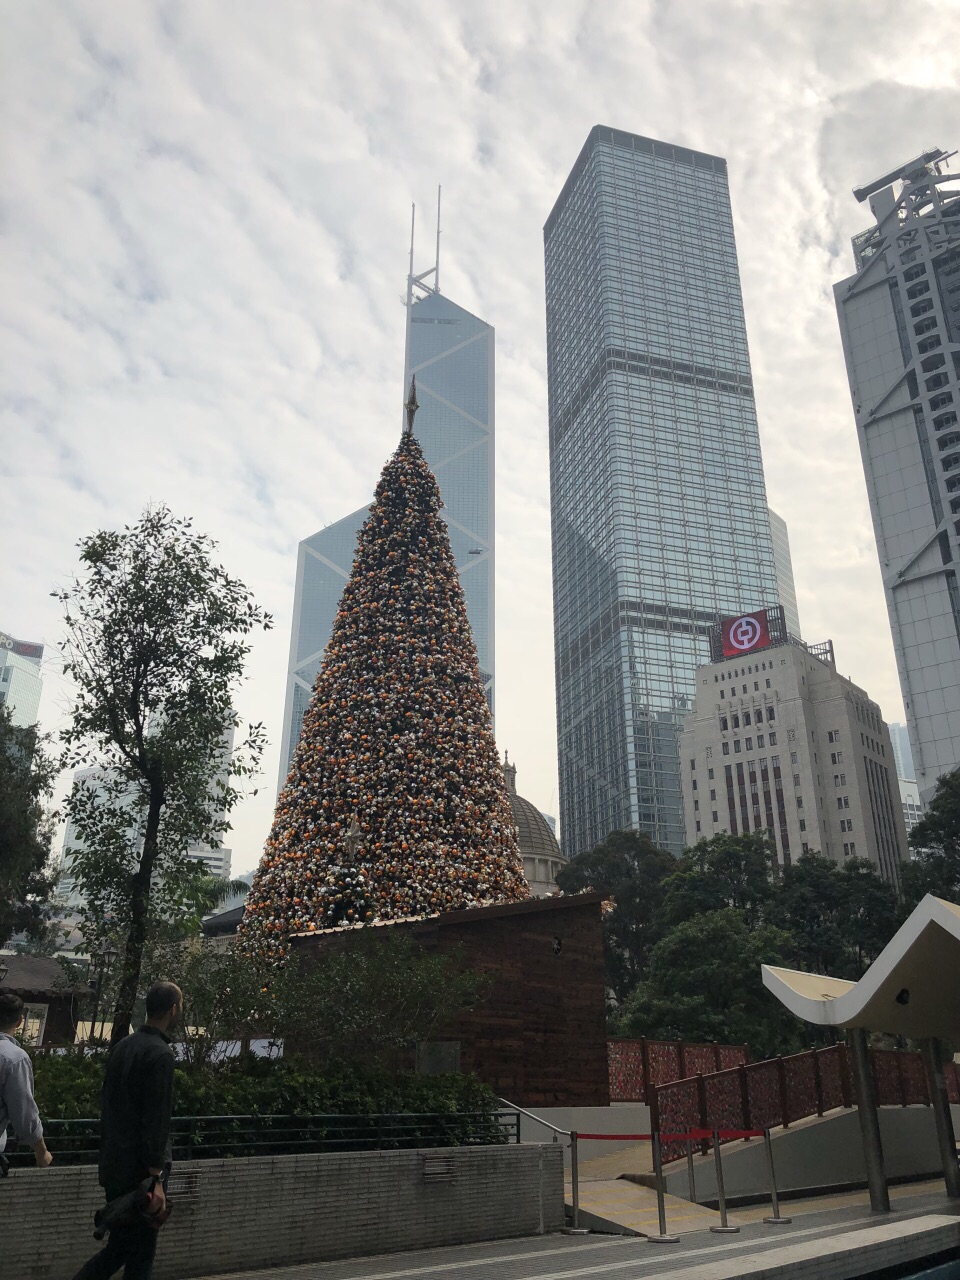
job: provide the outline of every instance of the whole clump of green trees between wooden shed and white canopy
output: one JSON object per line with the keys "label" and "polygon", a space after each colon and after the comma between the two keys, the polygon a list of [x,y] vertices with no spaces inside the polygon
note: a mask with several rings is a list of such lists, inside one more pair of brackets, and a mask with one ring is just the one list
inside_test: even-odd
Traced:
{"label": "whole clump of green trees between wooden shed and white canopy", "polygon": [[781,874],[760,835],[721,833],[675,859],[616,832],[557,879],[616,900],[605,946],[617,1033],[754,1052],[791,1052],[815,1034],[765,992],[762,964],[858,978],[904,918],[873,864],[805,854]]}

